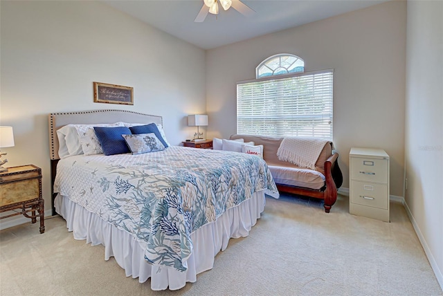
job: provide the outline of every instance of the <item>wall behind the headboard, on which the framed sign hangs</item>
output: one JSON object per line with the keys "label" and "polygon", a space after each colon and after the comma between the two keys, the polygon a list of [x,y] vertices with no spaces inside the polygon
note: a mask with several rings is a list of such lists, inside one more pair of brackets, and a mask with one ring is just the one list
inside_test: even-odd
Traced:
{"label": "wall behind the headboard, on which the framed sign hangs", "polygon": [[[163,115],[178,145],[194,133],[186,115],[206,111],[204,64],[204,50],[98,1],[1,1],[0,124],[15,136],[15,147],[2,149],[7,166],[42,168],[48,210],[49,113]],[[134,106],[94,103],[94,81],[133,86]]]}

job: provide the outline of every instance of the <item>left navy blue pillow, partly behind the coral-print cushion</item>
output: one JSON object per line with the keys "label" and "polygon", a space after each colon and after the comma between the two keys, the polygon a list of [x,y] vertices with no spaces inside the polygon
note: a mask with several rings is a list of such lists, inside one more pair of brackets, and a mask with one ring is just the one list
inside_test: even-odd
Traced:
{"label": "left navy blue pillow, partly behind the coral-print cushion", "polygon": [[127,127],[94,127],[100,145],[105,155],[129,153],[125,138],[122,135],[130,135],[131,130]]}

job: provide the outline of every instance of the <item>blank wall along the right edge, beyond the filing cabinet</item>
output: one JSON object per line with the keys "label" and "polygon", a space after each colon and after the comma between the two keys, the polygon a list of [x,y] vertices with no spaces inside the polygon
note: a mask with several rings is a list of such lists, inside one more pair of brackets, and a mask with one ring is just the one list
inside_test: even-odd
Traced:
{"label": "blank wall along the right edge, beyond the filing cabinet", "polygon": [[443,1],[408,1],[406,210],[443,288]]}

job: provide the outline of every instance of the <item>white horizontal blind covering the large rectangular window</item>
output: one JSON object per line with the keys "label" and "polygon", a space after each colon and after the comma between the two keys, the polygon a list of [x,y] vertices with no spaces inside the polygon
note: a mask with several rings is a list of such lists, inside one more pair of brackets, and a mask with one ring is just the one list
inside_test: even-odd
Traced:
{"label": "white horizontal blind covering the large rectangular window", "polygon": [[333,70],[237,83],[237,133],[332,140]]}

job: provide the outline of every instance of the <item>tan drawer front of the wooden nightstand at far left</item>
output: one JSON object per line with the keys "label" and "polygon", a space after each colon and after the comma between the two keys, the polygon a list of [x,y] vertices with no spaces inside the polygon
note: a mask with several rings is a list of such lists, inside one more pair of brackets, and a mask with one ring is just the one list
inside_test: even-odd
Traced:
{"label": "tan drawer front of the wooden nightstand at far left", "polygon": [[0,206],[21,203],[31,199],[38,199],[39,179],[28,179],[12,183],[1,184],[0,186]]}

